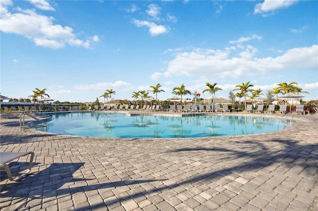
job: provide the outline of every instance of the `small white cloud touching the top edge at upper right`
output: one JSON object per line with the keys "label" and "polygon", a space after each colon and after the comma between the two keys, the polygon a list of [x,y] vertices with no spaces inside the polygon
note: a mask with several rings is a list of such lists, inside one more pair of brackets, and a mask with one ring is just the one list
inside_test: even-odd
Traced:
{"label": "small white cloud touching the top edge at upper right", "polygon": [[254,9],[254,14],[262,14],[268,16],[280,8],[287,8],[297,0],[264,0],[263,3],[257,3]]}

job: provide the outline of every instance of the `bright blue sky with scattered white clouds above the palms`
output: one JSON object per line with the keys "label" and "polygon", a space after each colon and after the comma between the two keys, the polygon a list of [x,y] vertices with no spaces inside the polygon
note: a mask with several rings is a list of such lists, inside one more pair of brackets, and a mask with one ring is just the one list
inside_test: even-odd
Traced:
{"label": "bright blue sky with scattered white clouds above the palms", "polygon": [[[228,99],[236,85],[298,83],[318,100],[317,0],[1,0],[0,94],[134,100],[158,83]],[[156,97],[151,91],[149,96]],[[192,98],[193,96],[183,96]]]}

